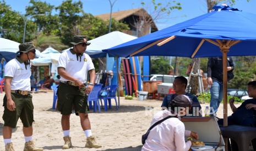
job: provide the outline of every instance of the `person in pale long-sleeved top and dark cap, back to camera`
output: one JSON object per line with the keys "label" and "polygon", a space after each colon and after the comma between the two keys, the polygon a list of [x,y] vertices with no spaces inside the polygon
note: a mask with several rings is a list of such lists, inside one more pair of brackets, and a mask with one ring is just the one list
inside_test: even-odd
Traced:
{"label": "person in pale long-sleeved top and dark cap, back to camera", "polygon": [[[185,130],[184,124],[179,119],[184,113],[186,113],[186,108],[191,106],[192,101],[188,96],[178,95],[170,102],[170,104],[168,104],[170,109],[157,112],[154,115],[150,126],[168,116],[172,116],[173,118],[168,118],[162,123],[156,125],[150,131],[141,150],[189,150],[192,142],[185,142],[184,137],[186,136],[198,139],[198,134]],[[183,111],[180,110],[181,107],[183,107]]]}

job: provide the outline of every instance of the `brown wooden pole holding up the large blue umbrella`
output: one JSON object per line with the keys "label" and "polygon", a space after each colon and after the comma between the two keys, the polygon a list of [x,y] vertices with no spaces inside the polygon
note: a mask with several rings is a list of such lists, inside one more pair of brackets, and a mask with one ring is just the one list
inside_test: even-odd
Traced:
{"label": "brown wooden pole holding up the large blue umbrella", "polygon": [[[220,45],[222,52],[222,67],[223,67],[223,115],[224,115],[224,126],[227,126],[227,52],[229,46]],[[228,138],[225,138],[225,150],[227,150]]]}

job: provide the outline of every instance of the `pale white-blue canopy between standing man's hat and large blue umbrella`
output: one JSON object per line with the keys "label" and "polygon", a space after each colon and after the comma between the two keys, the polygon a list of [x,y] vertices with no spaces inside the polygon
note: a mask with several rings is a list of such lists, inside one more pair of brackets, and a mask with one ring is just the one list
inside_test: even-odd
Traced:
{"label": "pale white-blue canopy between standing man's hat and large blue umbrella", "polygon": [[[113,31],[111,33],[107,33],[103,36],[89,40],[88,42],[91,44],[88,45],[85,53],[90,55],[90,57],[92,58],[106,57],[106,53],[102,52],[102,50],[115,47],[116,45],[128,42],[136,38],[137,37],[130,36],[129,34],[126,34],[126,33]],[[67,51],[67,50],[69,49],[66,49],[63,51]]]}

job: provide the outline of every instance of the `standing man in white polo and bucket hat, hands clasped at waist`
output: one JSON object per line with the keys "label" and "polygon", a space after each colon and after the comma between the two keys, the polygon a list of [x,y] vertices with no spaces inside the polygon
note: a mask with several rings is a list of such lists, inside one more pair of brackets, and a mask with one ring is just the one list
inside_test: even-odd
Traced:
{"label": "standing man in white polo and bucket hat, hands clasped at waist", "polygon": [[[58,74],[61,75],[58,88],[58,111],[61,112],[61,124],[64,134],[64,146],[62,149],[72,147],[70,132],[70,114],[72,107],[75,114],[79,115],[81,127],[85,133],[86,148],[100,148],[92,136],[90,120],[88,117],[87,96],[94,87],[95,68],[88,54],[85,54],[87,42],[85,36],[76,35],[73,38],[73,49],[61,54],[58,61]],[[90,83],[87,87],[87,74],[90,75]]]}

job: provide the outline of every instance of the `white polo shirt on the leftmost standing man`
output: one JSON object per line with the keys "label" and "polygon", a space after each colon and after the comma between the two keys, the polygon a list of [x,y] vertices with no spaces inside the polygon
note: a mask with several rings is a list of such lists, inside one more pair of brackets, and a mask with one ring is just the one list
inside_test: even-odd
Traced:
{"label": "white polo shirt on the leftmost standing man", "polygon": [[[27,69],[26,69],[27,68]],[[4,68],[4,77],[12,78],[10,83],[11,90],[30,91],[30,65],[26,65],[18,57],[7,62]]]}

